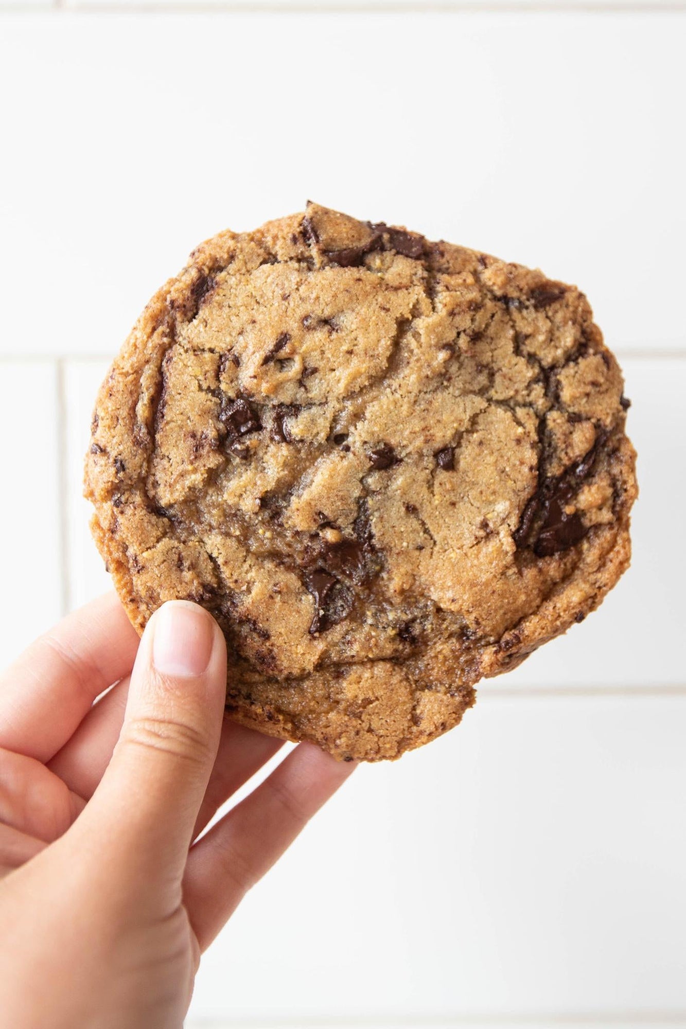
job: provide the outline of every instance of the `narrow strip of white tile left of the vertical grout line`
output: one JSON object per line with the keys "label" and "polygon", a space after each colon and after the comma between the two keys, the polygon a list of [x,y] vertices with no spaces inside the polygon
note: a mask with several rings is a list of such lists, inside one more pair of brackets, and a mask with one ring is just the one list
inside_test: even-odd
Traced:
{"label": "narrow strip of white tile left of the vertical grout line", "polygon": [[57,427],[57,372],[53,362],[0,360],[0,668],[62,613]]}

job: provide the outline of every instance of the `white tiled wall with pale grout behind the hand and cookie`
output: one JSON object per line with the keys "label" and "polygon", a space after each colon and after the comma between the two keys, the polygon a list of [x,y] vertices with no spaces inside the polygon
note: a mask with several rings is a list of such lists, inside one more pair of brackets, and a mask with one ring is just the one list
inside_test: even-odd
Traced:
{"label": "white tiled wall with pale grout behind the hand and cookie", "polygon": [[311,197],[577,282],[633,401],[630,571],[355,773],[188,1025],[686,1026],[686,10],[369,6],[0,0],[0,659],[107,588],[95,390],[201,239]]}

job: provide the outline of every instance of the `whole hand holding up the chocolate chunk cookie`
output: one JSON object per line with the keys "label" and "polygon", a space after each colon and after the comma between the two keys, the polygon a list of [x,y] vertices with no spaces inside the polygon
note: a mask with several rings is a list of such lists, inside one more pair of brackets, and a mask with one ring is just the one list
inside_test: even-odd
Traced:
{"label": "whole hand holding up the chocolate chunk cookie", "polygon": [[180,1029],[201,954],[354,768],[301,743],[198,839],[280,746],[225,717],[226,681],[206,611],[139,641],[114,595],[0,677],[3,1025]]}

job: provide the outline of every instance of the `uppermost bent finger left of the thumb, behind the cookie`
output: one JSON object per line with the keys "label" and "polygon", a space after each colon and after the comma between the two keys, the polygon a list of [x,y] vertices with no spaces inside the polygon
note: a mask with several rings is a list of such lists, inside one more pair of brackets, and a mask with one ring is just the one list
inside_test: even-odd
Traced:
{"label": "uppermost bent finger left of the thumb, behind the cookie", "polygon": [[114,593],[67,615],[0,675],[0,747],[49,760],[127,675],[138,635]]}

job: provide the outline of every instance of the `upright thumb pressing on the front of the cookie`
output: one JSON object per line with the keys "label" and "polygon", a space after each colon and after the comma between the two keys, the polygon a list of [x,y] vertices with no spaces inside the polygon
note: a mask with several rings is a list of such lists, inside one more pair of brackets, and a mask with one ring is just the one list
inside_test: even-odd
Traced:
{"label": "upright thumb pressing on the front of the cookie", "polygon": [[180,875],[219,745],[227,648],[197,604],[170,601],[148,622],[112,759],[89,821],[112,849]]}

